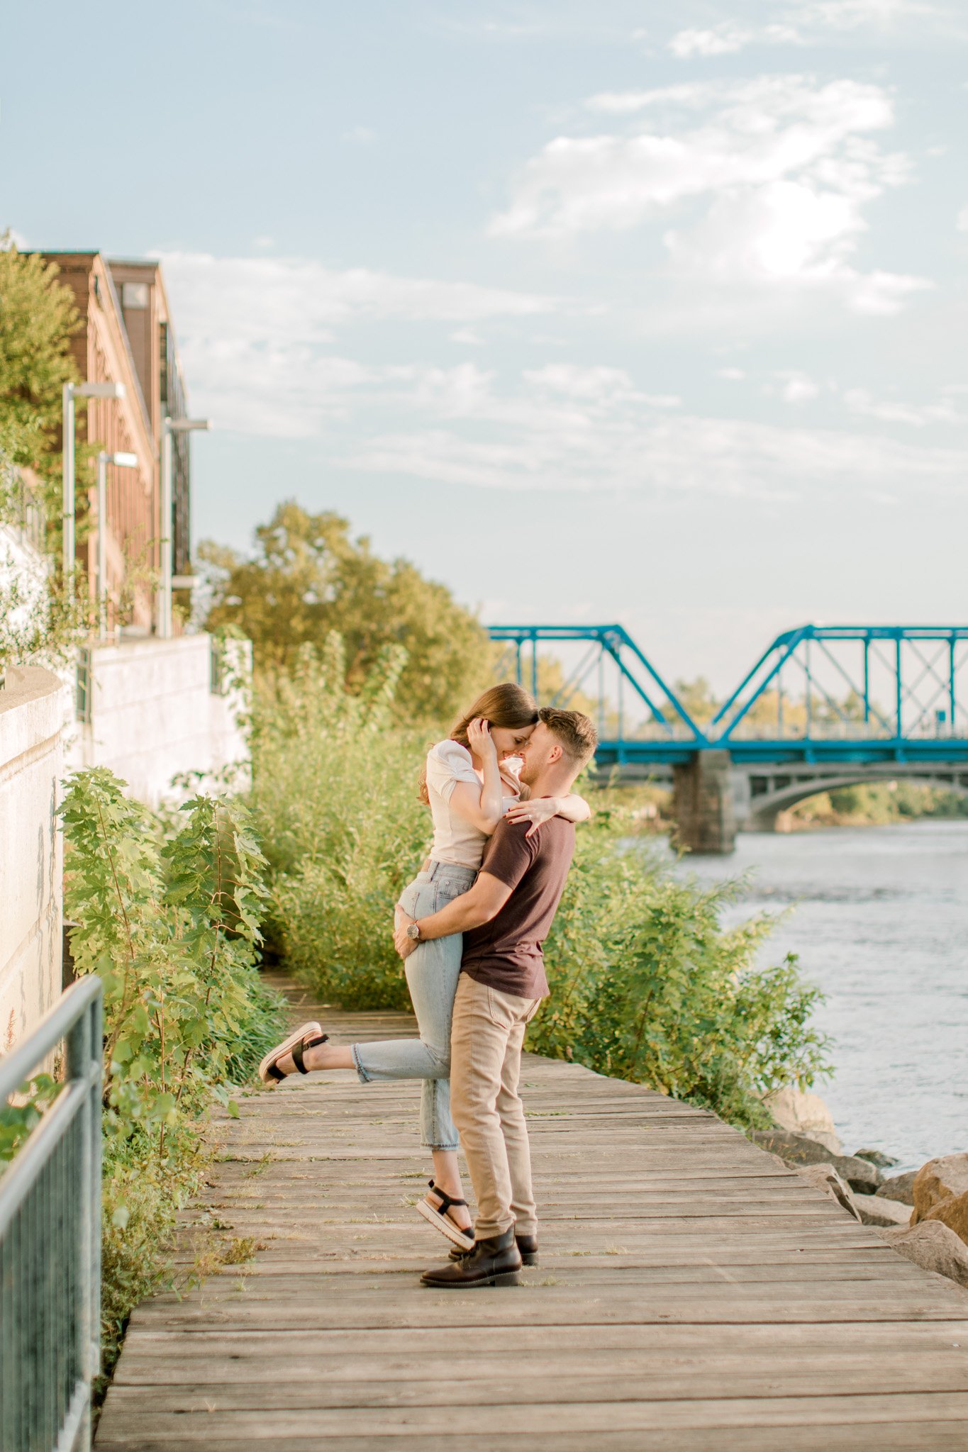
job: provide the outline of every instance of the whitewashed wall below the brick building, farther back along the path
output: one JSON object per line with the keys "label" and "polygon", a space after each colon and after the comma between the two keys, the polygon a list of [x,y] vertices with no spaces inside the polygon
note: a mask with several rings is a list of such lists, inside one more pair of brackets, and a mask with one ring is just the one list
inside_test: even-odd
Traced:
{"label": "whitewashed wall below the brick building, farther back along the path", "polygon": [[[237,669],[247,664],[248,642],[228,649]],[[210,636],[94,645],[90,661],[90,722],[75,723],[70,767],[109,767],[157,806],[184,794],[171,787],[179,772],[208,775],[247,758],[239,690],[212,691]]]}

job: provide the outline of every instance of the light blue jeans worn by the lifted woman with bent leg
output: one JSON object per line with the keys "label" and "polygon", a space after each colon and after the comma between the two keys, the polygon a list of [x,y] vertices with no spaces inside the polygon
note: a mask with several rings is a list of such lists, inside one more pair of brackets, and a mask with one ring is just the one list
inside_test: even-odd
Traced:
{"label": "light blue jeans worn by the lifted woman with bent leg", "polygon": [[[477,876],[475,867],[428,862],[399,896],[411,918],[427,918],[460,897]],[[353,1061],[363,1083],[372,1079],[422,1079],[421,1140],[431,1150],[456,1150],[450,1117],[450,1022],[460,977],[463,934],[418,942],[406,960],[406,986],[414,1000],[419,1038],[385,1038],[354,1044]]]}

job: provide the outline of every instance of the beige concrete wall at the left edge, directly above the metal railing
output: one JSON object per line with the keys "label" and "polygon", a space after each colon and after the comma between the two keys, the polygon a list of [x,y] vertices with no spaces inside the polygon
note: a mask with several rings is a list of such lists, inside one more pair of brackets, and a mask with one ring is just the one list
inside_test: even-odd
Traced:
{"label": "beige concrete wall at the left edge, directly above the metal railing", "polygon": [[0,691],[0,1051],[61,992],[64,685],[42,666],[10,666]]}

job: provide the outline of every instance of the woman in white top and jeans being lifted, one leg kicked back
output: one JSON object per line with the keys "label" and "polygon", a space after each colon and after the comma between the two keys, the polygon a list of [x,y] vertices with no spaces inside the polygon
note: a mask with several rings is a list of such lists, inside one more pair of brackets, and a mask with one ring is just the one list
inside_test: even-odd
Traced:
{"label": "woman in white top and jeans being lifted, one leg kicked back", "polygon": [[[583,822],[591,807],[578,796],[521,799],[515,758],[538,719],[534,698],[514,682],[480,696],[427,756],[421,800],[430,806],[434,842],[401,909],[424,918],[475,881],[488,838],[502,816],[534,831],[551,816]],[[520,770],[520,759],[518,759]],[[462,1249],[473,1246],[472,1220],[457,1165],[457,1131],[450,1117],[450,1022],[460,977],[462,934],[421,942],[406,960],[406,983],[419,1038],[393,1038],[337,1048],[319,1024],[303,1024],[263,1059],[264,1083],[299,1070],[356,1069],[361,1082],[422,1079],[421,1137],[434,1160],[428,1195],[417,1210]]]}

